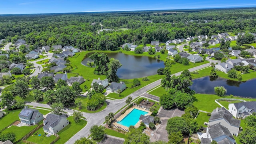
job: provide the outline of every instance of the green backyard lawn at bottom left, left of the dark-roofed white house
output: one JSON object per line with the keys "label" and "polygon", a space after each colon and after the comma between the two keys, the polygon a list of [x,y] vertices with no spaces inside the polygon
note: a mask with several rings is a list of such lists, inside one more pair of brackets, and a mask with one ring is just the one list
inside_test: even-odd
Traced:
{"label": "green backyard lawn at bottom left, left of the dark-roofed white house", "polygon": [[[38,134],[36,134],[36,133],[41,134],[41,136],[38,136]],[[39,130],[37,130],[36,132],[34,132],[34,134],[31,135],[26,140],[28,140],[30,142],[37,143],[37,144],[50,144],[50,142],[52,142],[56,138],[56,136],[54,136],[54,135],[51,135],[50,137],[44,136],[44,133],[45,132],[44,132],[44,129],[42,127]]]}

